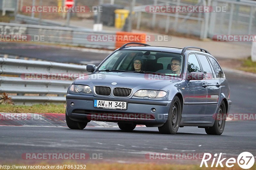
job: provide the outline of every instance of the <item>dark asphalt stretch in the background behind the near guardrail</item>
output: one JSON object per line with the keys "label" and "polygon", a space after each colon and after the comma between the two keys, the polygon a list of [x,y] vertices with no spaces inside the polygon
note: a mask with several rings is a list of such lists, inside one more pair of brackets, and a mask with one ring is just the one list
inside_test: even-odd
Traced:
{"label": "dark asphalt stretch in the background behind the near guardrail", "polygon": [[111,50],[0,42],[0,54],[58,63],[98,65],[110,53]]}

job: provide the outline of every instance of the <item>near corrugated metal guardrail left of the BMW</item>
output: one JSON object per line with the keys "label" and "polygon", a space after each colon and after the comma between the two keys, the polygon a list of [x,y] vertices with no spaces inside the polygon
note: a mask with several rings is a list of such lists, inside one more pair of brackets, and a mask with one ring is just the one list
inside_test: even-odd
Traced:
{"label": "near corrugated metal guardrail left of the BMW", "polygon": [[9,97],[15,104],[63,103],[73,80],[31,77],[55,73],[77,73],[72,78],[78,78],[88,72],[81,65],[0,58],[0,92],[11,93]]}

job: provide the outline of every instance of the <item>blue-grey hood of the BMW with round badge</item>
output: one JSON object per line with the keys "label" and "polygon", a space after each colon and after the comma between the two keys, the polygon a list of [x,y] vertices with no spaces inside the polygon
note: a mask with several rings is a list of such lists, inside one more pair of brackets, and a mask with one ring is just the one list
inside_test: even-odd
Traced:
{"label": "blue-grey hood of the BMW with round badge", "polygon": [[77,78],[75,84],[160,90],[178,81],[181,81],[181,78],[129,72],[98,72]]}

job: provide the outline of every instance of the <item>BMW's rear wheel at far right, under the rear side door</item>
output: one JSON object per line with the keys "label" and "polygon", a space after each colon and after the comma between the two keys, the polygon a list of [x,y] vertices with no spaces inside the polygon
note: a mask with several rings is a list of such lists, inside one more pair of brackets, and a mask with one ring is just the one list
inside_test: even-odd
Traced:
{"label": "BMW's rear wheel at far right, under the rear side door", "polygon": [[225,128],[226,123],[226,106],[222,100],[219,107],[219,113],[212,127],[205,128],[205,132],[208,135],[221,135]]}

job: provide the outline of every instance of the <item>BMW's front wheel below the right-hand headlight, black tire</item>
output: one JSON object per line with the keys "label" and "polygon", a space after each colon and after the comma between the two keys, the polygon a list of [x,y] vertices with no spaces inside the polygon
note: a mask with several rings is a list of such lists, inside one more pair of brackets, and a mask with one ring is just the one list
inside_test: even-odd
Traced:
{"label": "BMW's front wheel below the right-hand headlight, black tire", "polygon": [[168,113],[167,121],[163,126],[158,127],[160,133],[163,134],[176,134],[180,127],[181,120],[181,105],[178,96],[172,100],[172,104]]}

